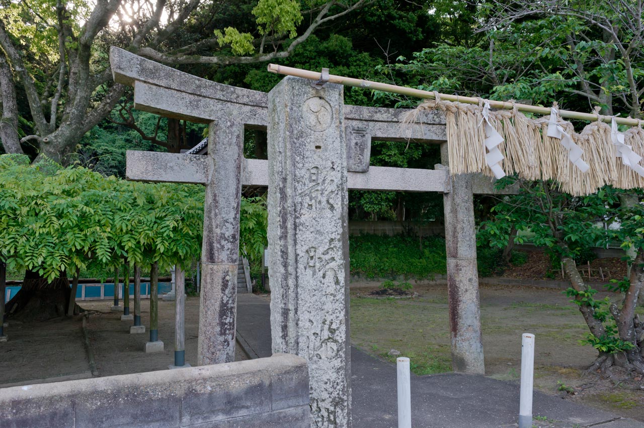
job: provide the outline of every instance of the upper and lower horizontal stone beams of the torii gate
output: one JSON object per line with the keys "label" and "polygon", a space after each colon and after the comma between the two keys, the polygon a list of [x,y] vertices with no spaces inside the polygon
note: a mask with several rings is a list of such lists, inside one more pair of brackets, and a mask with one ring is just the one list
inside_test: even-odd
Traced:
{"label": "upper and lower horizontal stone beams of the torii gate", "polygon": [[[226,120],[249,128],[268,125],[268,94],[224,85],[183,73],[158,62],[139,57],[124,49],[109,51],[115,82],[134,87],[135,107],[171,118],[198,123]],[[401,127],[404,109],[345,105],[347,134],[368,136],[372,140],[445,143],[444,114],[424,111],[419,123]],[[348,153],[348,156],[352,154]],[[363,156],[364,157],[364,156]],[[366,162],[366,165],[365,165]],[[450,192],[447,169],[420,170],[353,165],[348,171],[348,188],[353,190],[390,190],[399,192]],[[133,181],[158,183],[208,184],[209,161],[202,156],[138,152],[128,150],[126,177]],[[159,168],[163,165],[163,168]],[[268,185],[268,163],[243,159],[242,184]],[[495,190],[488,177],[478,177],[473,193],[515,193],[514,189]]]}

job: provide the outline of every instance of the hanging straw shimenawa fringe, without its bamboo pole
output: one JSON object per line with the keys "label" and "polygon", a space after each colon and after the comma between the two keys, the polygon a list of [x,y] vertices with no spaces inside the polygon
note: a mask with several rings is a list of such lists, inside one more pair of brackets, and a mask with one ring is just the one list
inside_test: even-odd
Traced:
{"label": "hanging straw shimenawa fringe, without its bamboo pole", "polygon": [[[494,176],[486,164],[483,101],[476,105],[442,100],[438,93],[434,93],[434,97],[434,100],[426,100],[410,111],[403,120],[403,127],[409,128],[417,123],[421,111],[443,111],[450,174],[481,172]],[[574,132],[569,121],[560,118],[556,121],[571,136],[573,143],[583,150],[582,159],[590,168],[582,172],[571,162],[569,148],[562,145],[562,140],[547,135],[550,116],[528,118],[516,107],[489,111],[491,125],[504,138],[498,147],[504,156],[500,163],[504,172],[526,180],[554,180],[562,191],[576,196],[595,193],[606,184],[622,189],[644,188],[644,177],[623,165],[617,156],[618,150],[611,139],[611,125],[605,123],[607,116],[600,116],[598,109],[594,114],[598,120],[586,125],[579,134]],[[642,156],[644,129],[632,127],[624,135],[625,144]]]}

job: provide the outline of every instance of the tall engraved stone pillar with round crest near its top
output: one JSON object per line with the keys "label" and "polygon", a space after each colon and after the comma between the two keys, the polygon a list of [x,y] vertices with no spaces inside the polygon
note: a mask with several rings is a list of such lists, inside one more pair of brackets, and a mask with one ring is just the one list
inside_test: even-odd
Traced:
{"label": "tall engraved stone pillar with round crest near its top", "polygon": [[273,352],[307,359],[312,427],[350,427],[343,88],[286,77],[269,118]]}

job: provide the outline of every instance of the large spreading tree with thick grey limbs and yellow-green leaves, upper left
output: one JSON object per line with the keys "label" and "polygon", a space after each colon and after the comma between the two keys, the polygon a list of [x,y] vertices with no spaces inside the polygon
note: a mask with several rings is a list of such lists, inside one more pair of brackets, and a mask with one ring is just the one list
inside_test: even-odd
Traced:
{"label": "large spreading tree with thick grey limbs and yellow-green leaves, upper left", "polygon": [[[30,143],[68,163],[82,136],[124,94],[111,81],[109,45],[173,66],[266,62],[288,57],[319,26],[365,3],[0,0],[3,148],[22,153],[21,143]],[[26,95],[25,121],[17,117],[16,87]]]}

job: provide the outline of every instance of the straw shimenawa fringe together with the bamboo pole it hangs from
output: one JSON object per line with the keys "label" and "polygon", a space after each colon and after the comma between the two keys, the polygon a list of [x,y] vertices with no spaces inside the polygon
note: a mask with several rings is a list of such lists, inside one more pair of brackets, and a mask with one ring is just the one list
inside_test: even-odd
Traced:
{"label": "straw shimenawa fringe together with the bamboo pole it hangs from", "polygon": [[[424,109],[442,110],[446,118],[450,173],[482,172],[494,175],[487,163],[487,156],[492,153],[486,151],[486,132],[482,117],[484,101],[480,98],[432,93],[411,87],[337,76],[329,74],[328,70],[326,73],[319,73],[278,64],[269,64],[268,70],[271,73],[298,76],[318,82],[324,79],[325,82],[334,84],[366,87],[428,100],[406,116],[403,126],[406,123],[408,127],[416,122],[419,112]],[[496,165],[500,165],[505,174],[516,173],[519,177],[529,180],[553,179],[558,181],[562,190],[573,195],[594,193],[605,184],[624,189],[644,186],[644,168],[634,162],[634,159],[644,154],[644,131],[641,129],[640,120],[600,116],[598,111],[560,111],[556,107],[547,109],[536,105],[495,100],[488,100],[488,103],[491,107],[500,109],[489,111],[488,120],[504,138],[504,142],[497,147],[503,159],[500,163],[492,165],[495,168]],[[547,116],[549,111],[557,116],[552,123],[549,123],[550,116]],[[531,119],[523,112],[546,116]],[[560,120],[562,117],[593,122],[587,125],[581,134],[576,134],[570,122]],[[614,135],[605,125],[605,121],[632,128],[623,134],[623,142],[618,141],[614,144]],[[552,136],[548,136],[549,133]],[[620,133],[620,140],[621,137]],[[632,152],[625,145],[631,146]],[[618,154],[627,154],[628,159],[620,159]],[[497,175],[502,176],[498,170]]]}

